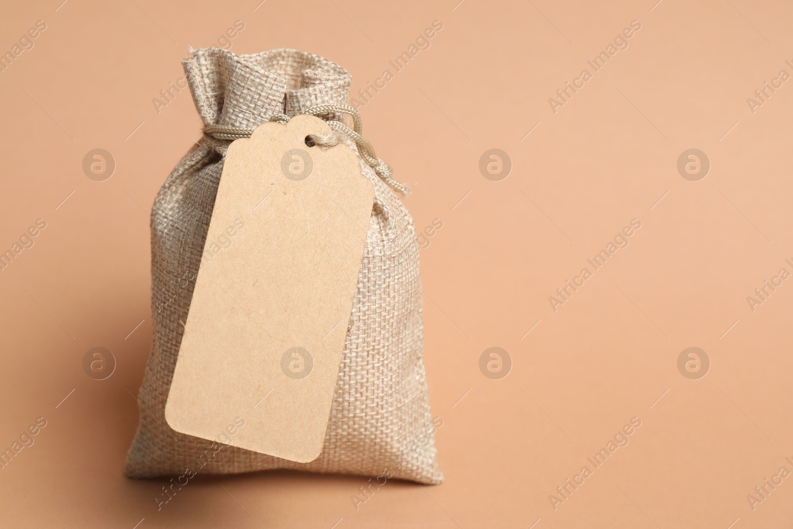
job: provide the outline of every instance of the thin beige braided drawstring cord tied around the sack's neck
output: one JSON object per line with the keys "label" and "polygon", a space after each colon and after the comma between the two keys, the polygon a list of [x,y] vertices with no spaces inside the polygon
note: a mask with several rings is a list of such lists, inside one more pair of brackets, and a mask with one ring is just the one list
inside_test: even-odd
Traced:
{"label": "thin beige braided drawstring cord tied around the sack's neck", "polygon": [[[402,194],[410,193],[410,188],[408,186],[392,178],[393,169],[391,169],[391,166],[377,158],[372,144],[362,136],[363,124],[358,110],[347,105],[316,105],[312,106],[310,109],[306,109],[303,113],[316,117],[332,113],[345,113],[351,116],[353,119],[353,128],[344,125],[341,121],[327,120],[326,123],[331,127],[332,132],[330,134],[312,134],[306,136],[306,144],[309,147],[313,147],[314,145],[332,147],[333,145],[342,143],[346,136],[358,145],[358,153],[361,155],[362,159],[369,164],[383,182],[388,184],[393,190],[400,191]],[[270,121],[286,123],[290,119],[291,116],[287,114],[276,114],[270,118]],[[239,140],[239,138],[250,137],[251,134],[253,134],[253,129],[232,127],[229,125],[208,125],[204,128],[204,132],[218,140]],[[309,144],[308,140],[310,140],[312,144]]]}

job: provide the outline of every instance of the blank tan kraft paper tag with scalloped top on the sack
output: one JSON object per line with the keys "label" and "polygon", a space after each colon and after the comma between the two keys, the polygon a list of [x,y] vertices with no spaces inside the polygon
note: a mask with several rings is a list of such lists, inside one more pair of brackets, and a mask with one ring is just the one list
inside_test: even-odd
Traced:
{"label": "blank tan kraft paper tag with scalloped top on the sack", "polygon": [[319,457],[374,204],[350,148],[306,146],[328,132],[299,115],[229,146],[165,407],[175,431]]}

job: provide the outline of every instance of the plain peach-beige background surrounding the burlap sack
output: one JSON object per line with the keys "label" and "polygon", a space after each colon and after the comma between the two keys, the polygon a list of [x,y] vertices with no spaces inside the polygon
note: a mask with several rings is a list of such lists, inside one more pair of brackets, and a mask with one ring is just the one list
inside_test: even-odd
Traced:
{"label": "plain peach-beige background surrounding the burlap sack", "polygon": [[[47,222],[0,271],[0,447],[47,420],[0,470],[3,526],[791,523],[793,477],[754,510],[746,496],[780,466],[793,471],[793,286],[754,312],[746,297],[793,272],[793,86],[755,113],[746,99],[793,74],[793,6],[455,3],[3,7],[2,52],[47,24],[0,72],[0,249]],[[443,485],[389,482],[356,511],[362,477],[200,476],[158,512],[166,481],[123,477],[151,341],[148,212],[201,135],[186,90],[159,113],[152,99],[182,78],[188,46],[217,44],[237,20],[232,51],[314,52],[351,71],[354,91],[443,24],[361,110],[378,155],[414,187],[404,201],[416,228],[443,224],[422,250]],[[629,48],[554,113],[548,99],[634,20]],[[93,148],[116,160],[105,182],[82,171]],[[500,182],[478,169],[490,148],[513,163]],[[676,169],[689,148],[711,160],[698,182]],[[548,297],[634,218],[630,246],[554,312]],[[494,346],[513,362],[500,380],[479,369]],[[104,381],[82,370],[91,347],[117,359]],[[711,358],[704,378],[678,371],[686,347]],[[634,416],[630,443],[554,510],[549,495]]]}

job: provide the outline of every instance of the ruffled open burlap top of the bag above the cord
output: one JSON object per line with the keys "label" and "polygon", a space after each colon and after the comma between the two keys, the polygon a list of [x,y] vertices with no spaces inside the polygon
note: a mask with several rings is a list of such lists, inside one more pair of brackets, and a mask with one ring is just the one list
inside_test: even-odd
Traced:
{"label": "ruffled open burlap top of the bag above the cord", "polygon": [[345,105],[352,84],[352,76],[338,64],[285,48],[250,55],[201,48],[185,59],[184,67],[205,126],[256,128],[278,114]]}

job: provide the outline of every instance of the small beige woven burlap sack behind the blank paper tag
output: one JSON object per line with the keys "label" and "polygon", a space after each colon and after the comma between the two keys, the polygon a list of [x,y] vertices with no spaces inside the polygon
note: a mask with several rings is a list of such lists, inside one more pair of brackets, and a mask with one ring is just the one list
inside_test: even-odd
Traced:
{"label": "small beige woven burlap sack behind the blank paper tag", "polygon": [[[339,65],[289,49],[245,56],[200,49],[184,67],[205,126],[255,128],[275,114],[346,104],[351,86],[351,75]],[[127,457],[127,475],[295,469],[440,483],[434,431],[442,421],[432,419],[422,362],[416,232],[396,194],[366,163],[361,168],[374,183],[374,205],[320,457],[290,462],[168,427],[165,403],[182,323],[229,143],[204,136],[174,168],[151,209],[154,341],[138,397],[140,425]]]}

